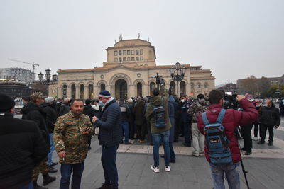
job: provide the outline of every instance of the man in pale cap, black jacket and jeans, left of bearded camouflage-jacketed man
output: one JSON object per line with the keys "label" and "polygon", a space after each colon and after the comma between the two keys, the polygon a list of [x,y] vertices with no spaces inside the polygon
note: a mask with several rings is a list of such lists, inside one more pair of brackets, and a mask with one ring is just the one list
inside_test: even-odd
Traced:
{"label": "man in pale cap, black jacket and jeans, left of bearded camouflage-jacketed man", "polygon": [[45,98],[45,102],[42,105],[40,105],[40,108],[43,108],[43,112],[45,113],[45,121],[49,135],[50,151],[48,153],[48,166],[49,166],[48,172],[50,173],[55,173],[58,171],[57,169],[53,168],[53,166],[58,164],[57,162],[56,163],[53,162],[53,151],[54,151],[53,130],[56,119],[58,118],[54,107],[55,105],[53,104],[53,102],[54,98],[48,97]]}

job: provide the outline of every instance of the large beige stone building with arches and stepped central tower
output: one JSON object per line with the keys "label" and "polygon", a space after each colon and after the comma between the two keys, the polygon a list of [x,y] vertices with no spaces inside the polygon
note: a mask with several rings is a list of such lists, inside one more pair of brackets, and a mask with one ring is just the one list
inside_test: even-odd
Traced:
{"label": "large beige stone building with arches and stepped central tower", "polygon": [[[182,65],[186,67],[185,78],[177,87],[170,76],[172,66],[156,65],[155,59],[155,47],[150,42],[121,39],[114,47],[107,48],[107,62],[103,62],[103,67],[60,69],[56,93],[59,97],[86,99],[97,98],[99,91],[106,89],[116,98],[149,96],[155,87],[156,73],[163,76],[167,88],[175,88],[175,94],[207,95],[214,88],[212,71],[190,64]],[[55,88],[50,86],[51,96],[55,96]]]}

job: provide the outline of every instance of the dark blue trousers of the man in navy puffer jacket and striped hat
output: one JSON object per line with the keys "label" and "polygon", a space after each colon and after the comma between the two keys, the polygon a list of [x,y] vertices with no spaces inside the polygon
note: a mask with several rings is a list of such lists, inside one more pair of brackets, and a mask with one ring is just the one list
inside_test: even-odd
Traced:
{"label": "dark blue trousers of the man in navy puffer jacket and striped hat", "polygon": [[116,168],[116,151],[119,145],[114,147],[102,146],[102,168],[104,169],[104,183],[112,188],[119,187],[119,174]]}

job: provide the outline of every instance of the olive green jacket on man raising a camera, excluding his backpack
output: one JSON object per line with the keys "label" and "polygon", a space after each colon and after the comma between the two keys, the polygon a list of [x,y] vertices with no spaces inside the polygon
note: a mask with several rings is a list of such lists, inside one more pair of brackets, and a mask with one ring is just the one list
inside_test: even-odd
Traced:
{"label": "olive green jacket on man raising a camera, excluding his backpack", "polygon": [[165,90],[164,85],[160,85],[160,93],[164,98],[163,107],[165,108],[165,116],[167,118],[167,126],[165,126],[163,128],[155,127],[155,118],[153,116],[152,105],[160,105],[160,103],[162,101],[162,97],[160,95],[153,96],[150,99],[149,104],[147,105],[147,110],[146,110],[146,113],[145,113],[146,120],[149,120],[150,125],[151,125],[151,134],[159,134],[161,132],[165,132],[167,130],[170,130],[170,127],[172,127],[172,125],[170,125],[170,118],[168,116],[168,92]]}

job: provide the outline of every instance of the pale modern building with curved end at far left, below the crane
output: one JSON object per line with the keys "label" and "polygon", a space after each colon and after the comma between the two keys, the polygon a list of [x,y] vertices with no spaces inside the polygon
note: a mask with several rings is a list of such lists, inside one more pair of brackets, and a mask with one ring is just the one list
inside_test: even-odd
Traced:
{"label": "pale modern building with curved end at far left, below the crane", "polygon": [[0,79],[18,79],[28,84],[35,81],[35,73],[29,69],[23,68],[1,68]]}

